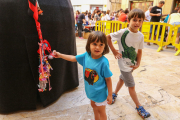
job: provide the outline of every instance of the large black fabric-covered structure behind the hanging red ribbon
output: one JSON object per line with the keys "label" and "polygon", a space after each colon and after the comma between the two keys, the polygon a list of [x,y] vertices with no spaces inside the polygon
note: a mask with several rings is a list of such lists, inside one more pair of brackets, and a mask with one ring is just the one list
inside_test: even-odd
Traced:
{"label": "large black fabric-covered structure behind the hanging red ribbon", "polygon": [[[38,0],[43,38],[52,50],[76,55],[74,15],[70,0]],[[38,33],[28,15],[28,0],[0,0],[0,113],[36,109],[79,85],[77,63],[53,59],[52,90],[39,93]],[[47,84],[48,86],[48,84]]]}

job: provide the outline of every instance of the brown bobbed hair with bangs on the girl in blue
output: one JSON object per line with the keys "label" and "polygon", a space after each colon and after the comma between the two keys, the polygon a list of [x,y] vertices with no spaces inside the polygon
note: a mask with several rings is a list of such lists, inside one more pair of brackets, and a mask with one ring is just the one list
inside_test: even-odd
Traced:
{"label": "brown bobbed hair with bangs on the girl in blue", "polygon": [[102,55],[105,55],[107,53],[109,53],[109,47],[108,47],[108,43],[107,43],[107,38],[106,38],[106,35],[101,32],[101,31],[93,31],[89,37],[88,37],[88,40],[87,40],[87,43],[86,43],[86,51],[88,53],[91,52],[90,50],[90,44],[92,42],[95,42],[97,40],[97,42],[101,42],[101,43],[104,43],[105,44],[105,47],[104,47],[104,51],[102,53]]}

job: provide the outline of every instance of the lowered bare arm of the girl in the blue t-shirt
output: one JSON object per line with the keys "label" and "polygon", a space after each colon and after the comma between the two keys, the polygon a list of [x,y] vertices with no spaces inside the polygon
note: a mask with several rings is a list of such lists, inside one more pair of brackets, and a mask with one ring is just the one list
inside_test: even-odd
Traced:
{"label": "lowered bare arm of the girl in the blue t-shirt", "polygon": [[112,103],[112,81],[111,81],[111,77],[105,78],[105,80],[106,80],[106,84],[107,84],[107,88],[108,88],[107,101],[108,101],[108,104],[111,104]]}

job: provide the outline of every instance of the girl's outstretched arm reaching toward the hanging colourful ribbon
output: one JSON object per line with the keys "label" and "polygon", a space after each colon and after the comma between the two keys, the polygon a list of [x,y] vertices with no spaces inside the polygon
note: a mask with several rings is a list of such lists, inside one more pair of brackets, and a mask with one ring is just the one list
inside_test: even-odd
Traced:
{"label": "girl's outstretched arm reaching toward the hanging colourful ribbon", "polygon": [[53,51],[53,55],[55,56],[55,58],[62,58],[67,61],[77,62],[76,57],[74,55],[62,54],[60,52],[56,52],[56,50]]}

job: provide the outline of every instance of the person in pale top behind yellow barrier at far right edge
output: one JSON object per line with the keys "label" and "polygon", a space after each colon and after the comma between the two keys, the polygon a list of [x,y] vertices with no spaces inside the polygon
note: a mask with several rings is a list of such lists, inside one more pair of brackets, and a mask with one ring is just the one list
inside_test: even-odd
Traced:
{"label": "person in pale top behind yellow barrier at far right edge", "polygon": [[[180,10],[178,10],[177,13],[173,13],[169,16],[169,19],[168,19],[168,22],[169,24],[171,25],[180,25]],[[169,29],[168,28],[168,33],[169,33]],[[169,36],[169,34],[168,34]],[[179,37],[180,37],[180,27],[178,28],[178,31],[177,31],[177,36],[176,36],[176,43],[179,44]],[[168,39],[168,37],[167,37]],[[167,42],[167,39],[166,39],[166,42]],[[167,45],[165,46],[165,48],[167,48]],[[177,48],[175,47],[175,51],[177,51]]]}

